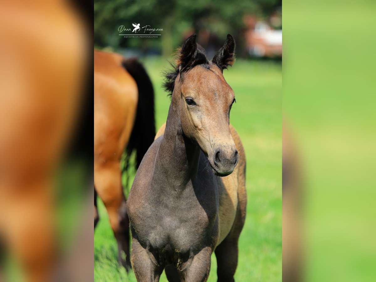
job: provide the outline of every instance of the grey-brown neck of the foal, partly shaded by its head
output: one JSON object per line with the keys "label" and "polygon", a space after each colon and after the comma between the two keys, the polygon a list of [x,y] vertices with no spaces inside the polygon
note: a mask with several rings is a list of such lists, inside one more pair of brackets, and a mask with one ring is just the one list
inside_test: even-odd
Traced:
{"label": "grey-brown neck of the foal, partly shaded by its head", "polygon": [[199,156],[200,147],[184,135],[177,109],[171,103],[153,180],[159,187],[184,190],[190,180],[196,180]]}

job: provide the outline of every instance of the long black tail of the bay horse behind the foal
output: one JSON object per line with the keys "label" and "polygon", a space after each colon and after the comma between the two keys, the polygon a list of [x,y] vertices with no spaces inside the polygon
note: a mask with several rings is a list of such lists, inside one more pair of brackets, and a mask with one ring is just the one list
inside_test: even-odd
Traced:
{"label": "long black tail of the bay horse behind the foal", "polygon": [[153,84],[145,68],[136,58],[124,59],[122,65],[136,81],[138,88],[136,118],[126,147],[124,171],[128,169],[129,156],[133,150],[136,151],[136,168],[140,165],[147,149],[154,141],[155,119]]}

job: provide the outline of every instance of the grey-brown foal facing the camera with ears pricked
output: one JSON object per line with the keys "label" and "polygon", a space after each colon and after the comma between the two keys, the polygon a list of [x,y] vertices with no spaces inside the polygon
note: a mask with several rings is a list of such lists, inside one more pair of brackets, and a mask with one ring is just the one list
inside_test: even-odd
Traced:
{"label": "grey-brown foal facing the camera with ears pricked", "polygon": [[233,281],[247,201],[246,157],[229,124],[235,97],[222,74],[234,51],[227,35],[208,61],[192,35],[167,75],[165,130],[144,156],[127,202],[138,281],[158,281],[164,269],[169,281],[206,281],[212,252],[218,281]]}

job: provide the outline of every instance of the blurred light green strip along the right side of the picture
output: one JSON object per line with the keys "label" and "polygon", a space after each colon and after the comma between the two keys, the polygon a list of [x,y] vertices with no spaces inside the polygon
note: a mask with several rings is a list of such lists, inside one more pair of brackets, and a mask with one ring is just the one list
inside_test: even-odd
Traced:
{"label": "blurred light green strip along the right side of the picture", "polygon": [[[293,1],[283,9],[283,110],[303,179],[295,202],[283,192],[283,209],[294,211],[283,211],[284,270],[300,234],[303,258],[294,263],[303,280],[375,281],[376,3]],[[293,244],[285,244],[288,233]]]}

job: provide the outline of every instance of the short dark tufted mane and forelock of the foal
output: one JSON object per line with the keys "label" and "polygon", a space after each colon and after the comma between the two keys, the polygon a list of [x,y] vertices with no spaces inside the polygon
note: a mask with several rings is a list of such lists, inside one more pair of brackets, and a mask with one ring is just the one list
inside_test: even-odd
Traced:
{"label": "short dark tufted mane and forelock of the foal", "polygon": [[[174,62],[170,62],[173,70],[167,70],[163,73],[165,76],[163,87],[168,92],[168,96],[171,96],[172,92],[174,91],[175,80],[179,73],[180,75],[182,75],[183,73],[191,70],[196,65],[204,65],[204,67],[209,68],[209,61],[206,57],[205,49],[203,49],[201,45],[197,44],[197,49],[192,56],[193,59],[190,60],[188,64],[183,64],[183,62],[187,63],[186,58],[191,54],[182,54],[181,50],[182,47],[179,47],[176,50]],[[181,67],[182,65],[184,65],[184,67]]]}

